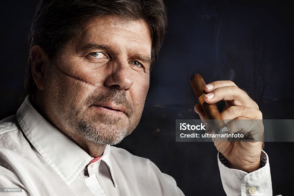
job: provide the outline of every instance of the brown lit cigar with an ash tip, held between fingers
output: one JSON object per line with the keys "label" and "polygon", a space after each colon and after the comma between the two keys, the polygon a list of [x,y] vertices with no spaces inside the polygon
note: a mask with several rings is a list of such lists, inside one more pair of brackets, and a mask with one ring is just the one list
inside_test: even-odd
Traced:
{"label": "brown lit cigar with an ash tip, held between fingers", "polygon": [[212,125],[214,133],[221,135],[229,134],[228,127],[225,125],[216,104],[208,104],[204,100],[207,93],[204,91],[206,83],[204,82],[202,76],[199,74],[191,76],[190,83],[204,113],[207,116],[207,119],[213,120],[214,122]]}

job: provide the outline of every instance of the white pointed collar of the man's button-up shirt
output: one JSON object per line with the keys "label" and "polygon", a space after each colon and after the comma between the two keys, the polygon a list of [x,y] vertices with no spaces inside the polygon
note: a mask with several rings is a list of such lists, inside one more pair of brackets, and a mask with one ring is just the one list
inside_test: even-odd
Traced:
{"label": "white pointed collar of the man's button-up shirt", "polygon": [[[67,184],[70,184],[93,159],[39,114],[31,105],[29,95],[17,110],[16,117],[31,144]],[[116,185],[109,145],[106,146],[101,160],[107,164]]]}

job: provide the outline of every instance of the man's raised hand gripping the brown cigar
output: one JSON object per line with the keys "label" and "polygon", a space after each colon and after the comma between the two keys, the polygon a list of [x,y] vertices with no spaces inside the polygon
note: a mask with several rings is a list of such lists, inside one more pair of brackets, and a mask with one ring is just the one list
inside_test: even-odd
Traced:
{"label": "man's raised hand gripping the brown cigar", "polygon": [[[215,81],[207,84],[204,90],[208,93],[205,97],[207,103],[213,104],[220,100],[225,101],[225,108],[220,113],[222,118],[225,119],[225,123],[230,124],[230,121],[234,119],[247,119],[249,121],[251,119],[262,119],[262,113],[258,105],[232,81]],[[199,103],[195,105],[194,109],[201,120],[207,119]],[[239,130],[248,129],[246,125],[243,126],[245,127]],[[262,123],[256,126],[263,130]],[[230,130],[230,126],[228,128]],[[259,132],[257,135],[260,137],[260,131],[257,132]],[[232,133],[232,130],[230,130],[230,133]],[[263,135],[263,131],[261,134]],[[231,168],[253,172],[261,167],[260,153],[263,142],[223,142],[214,140],[214,145],[228,160]]]}

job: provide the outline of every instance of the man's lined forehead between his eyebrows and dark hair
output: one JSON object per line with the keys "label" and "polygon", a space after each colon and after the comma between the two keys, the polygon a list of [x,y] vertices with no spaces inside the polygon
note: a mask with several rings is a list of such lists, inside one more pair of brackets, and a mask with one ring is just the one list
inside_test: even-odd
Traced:
{"label": "man's lined forehead between his eyebrows and dark hair", "polygon": [[76,37],[76,46],[89,43],[106,45],[116,50],[140,51],[151,54],[150,27],[143,20],[130,21],[116,16],[94,17]]}

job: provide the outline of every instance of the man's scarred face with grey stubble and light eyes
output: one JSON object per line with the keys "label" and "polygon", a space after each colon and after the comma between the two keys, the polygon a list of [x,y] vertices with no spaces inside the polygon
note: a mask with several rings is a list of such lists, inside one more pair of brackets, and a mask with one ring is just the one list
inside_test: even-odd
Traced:
{"label": "man's scarred face with grey stubble and light eyes", "polygon": [[46,116],[70,138],[119,143],[141,118],[151,43],[143,21],[92,19],[45,72]]}

